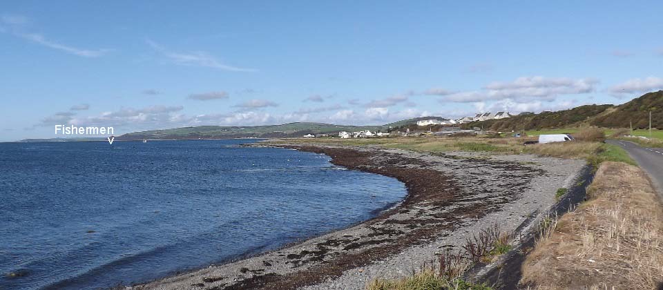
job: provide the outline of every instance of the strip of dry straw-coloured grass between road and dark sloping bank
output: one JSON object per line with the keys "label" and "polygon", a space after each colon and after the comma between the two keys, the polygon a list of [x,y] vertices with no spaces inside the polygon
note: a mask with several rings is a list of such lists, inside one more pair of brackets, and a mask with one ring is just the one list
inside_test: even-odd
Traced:
{"label": "strip of dry straw-coloured grass between road and dark sloping bank", "polygon": [[656,289],[663,281],[663,211],[645,173],[604,162],[589,196],[537,242],[521,282],[532,289]]}

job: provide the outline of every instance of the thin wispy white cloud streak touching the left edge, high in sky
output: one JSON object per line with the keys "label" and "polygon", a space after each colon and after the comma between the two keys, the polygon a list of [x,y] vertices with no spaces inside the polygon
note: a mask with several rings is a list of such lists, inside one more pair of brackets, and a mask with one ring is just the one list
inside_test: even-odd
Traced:
{"label": "thin wispy white cloud streak touching the left edge, high in sky", "polygon": [[77,55],[79,57],[100,57],[111,51],[105,48],[96,50],[76,48],[74,46],[68,46],[57,41],[46,39],[44,35],[39,33],[27,32],[26,26],[30,23],[30,19],[21,15],[3,15],[0,17],[0,21],[7,26],[7,28],[0,30],[2,32],[8,32],[16,37],[27,39],[41,46],[61,50],[71,55]]}

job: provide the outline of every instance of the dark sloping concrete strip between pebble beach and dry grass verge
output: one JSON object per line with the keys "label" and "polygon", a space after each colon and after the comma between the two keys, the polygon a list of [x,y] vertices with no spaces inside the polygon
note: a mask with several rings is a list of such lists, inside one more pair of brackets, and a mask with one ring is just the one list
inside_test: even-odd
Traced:
{"label": "dark sloping concrete strip between pebble beach and dry grass verge", "polygon": [[[497,289],[517,289],[518,282],[522,276],[522,264],[526,255],[535,246],[539,238],[539,221],[543,218],[557,216],[557,218],[575,209],[586,197],[587,188],[594,179],[593,166],[587,165],[582,168],[573,186],[562,195],[559,201],[545,213],[534,212],[523,221],[515,230],[514,236],[519,240],[518,244],[502,255],[499,260],[490,264],[477,264],[465,273],[468,280],[478,280]],[[472,279],[473,278],[473,279]]]}

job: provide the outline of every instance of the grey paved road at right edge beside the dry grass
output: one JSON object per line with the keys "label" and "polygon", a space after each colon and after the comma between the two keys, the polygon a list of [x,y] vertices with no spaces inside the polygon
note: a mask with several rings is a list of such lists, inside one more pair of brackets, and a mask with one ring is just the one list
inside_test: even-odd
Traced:
{"label": "grey paved road at right edge beside the dry grass", "polygon": [[663,198],[663,148],[645,148],[622,140],[607,140],[606,143],[626,149],[633,160],[640,164],[640,168],[649,174],[658,194]]}

